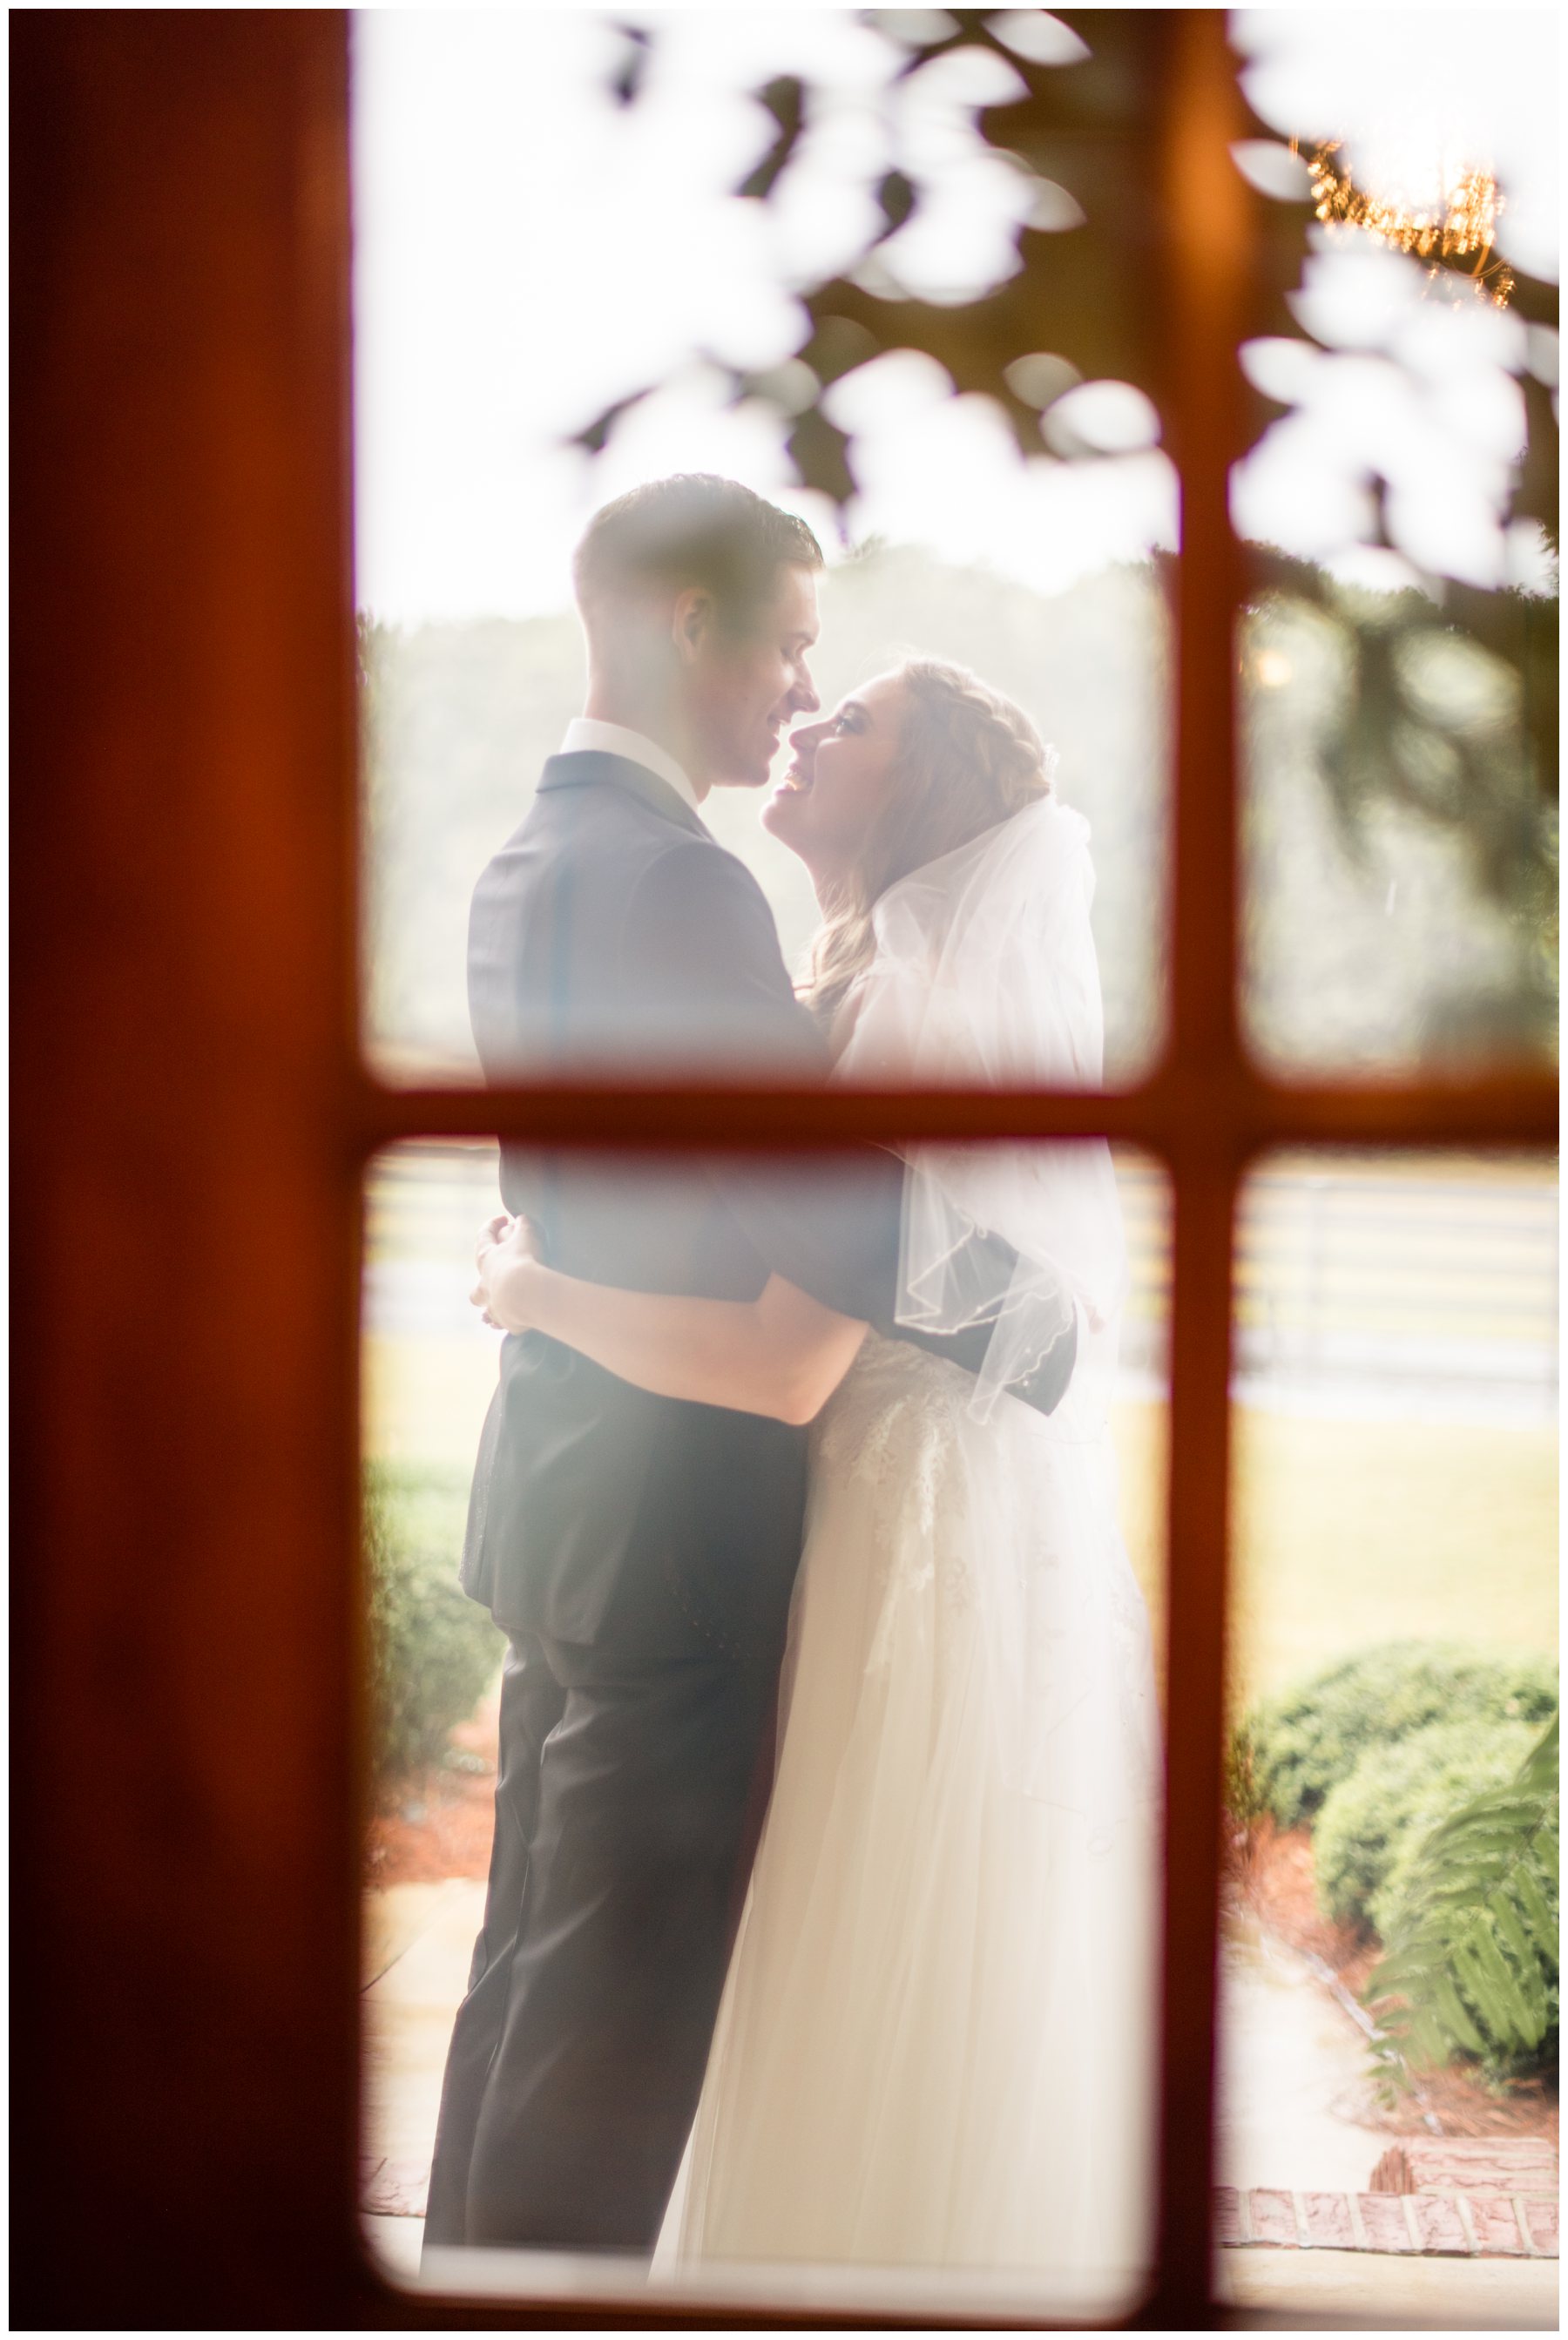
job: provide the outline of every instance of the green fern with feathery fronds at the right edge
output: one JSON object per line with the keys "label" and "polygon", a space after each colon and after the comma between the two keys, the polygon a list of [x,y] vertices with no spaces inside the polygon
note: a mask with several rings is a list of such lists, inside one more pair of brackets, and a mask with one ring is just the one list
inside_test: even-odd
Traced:
{"label": "green fern with feathery fronds at the right edge", "polygon": [[1442,1821],[1404,1872],[1367,1984],[1385,2087],[1477,2057],[1493,2076],[1556,2059],[1559,1722],[1514,1778]]}

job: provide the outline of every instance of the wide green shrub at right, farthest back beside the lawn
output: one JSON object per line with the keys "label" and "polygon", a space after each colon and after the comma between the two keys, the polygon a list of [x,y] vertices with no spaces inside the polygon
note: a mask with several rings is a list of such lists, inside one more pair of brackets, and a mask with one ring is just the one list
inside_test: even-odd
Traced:
{"label": "wide green shrub at right, farthest back beside the lawn", "polygon": [[1259,1706],[1238,1732],[1231,1774],[1250,1781],[1254,1818],[1311,1821],[1374,1746],[1432,1722],[1533,1722],[1556,1713],[1556,1666],[1535,1654],[1484,1654],[1456,1643],[1390,1640],[1343,1657]]}

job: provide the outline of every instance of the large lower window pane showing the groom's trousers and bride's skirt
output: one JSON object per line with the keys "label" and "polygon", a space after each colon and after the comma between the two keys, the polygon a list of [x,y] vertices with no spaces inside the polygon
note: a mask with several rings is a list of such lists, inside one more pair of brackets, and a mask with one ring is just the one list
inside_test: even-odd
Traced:
{"label": "large lower window pane showing the groom's trousers and bride's skirt", "polygon": [[[847,1161],[508,1158],[555,1254],[644,1299],[676,1275],[742,1296],[763,1254],[868,1310],[882,1289],[887,1331],[800,1430],[756,1411],[814,1402],[777,1362],[814,1355],[798,1324],[789,1350],[789,1317],[761,1348],[737,1310],[615,1353],[658,1378],[728,1343],[721,1385],[754,1411],[648,1395],[538,1331],[501,1346],[466,1301],[496,1149],[374,1165],[363,2204],[396,2279],[417,2279],[433,2202],[447,2289],[639,2291],[662,2225],[653,2282],[686,2291],[1070,2317],[1135,2300],[1168,1210],[1151,1163],[1102,1147],[941,1165],[943,1193],[983,1184],[992,1207],[1018,1179],[1072,1186],[1081,1236],[1095,1210],[1126,1231],[1126,1308],[1119,1259],[1074,1254],[1067,1353],[1044,1341],[1046,1280],[995,1231],[967,1245],[962,1292],[922,1282],[924,1329],[896,1322],[917,1313],[901,1214],[906,1266],[922,1240],[901,1172],[889,1228],[885,1177]],[[929,1217],[936,1186],[920,1200]],[[999,1261],[999,1322],[938,1353],[936,1317]],[[835,1355],[793,1371],[831,1378]],[[988,1392],[1002,1357],[1013,1378]],[[545,2246],[571,2256],[541,2267],[527,2249]]]}

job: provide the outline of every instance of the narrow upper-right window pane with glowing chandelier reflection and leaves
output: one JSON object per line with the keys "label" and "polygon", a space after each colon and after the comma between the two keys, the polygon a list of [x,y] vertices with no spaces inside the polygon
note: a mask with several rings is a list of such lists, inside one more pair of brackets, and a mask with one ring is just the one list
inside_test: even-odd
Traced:
{"label": "narrow upper-right window pane with glowing chandelier reflection and leaves", "polygon": [[1233,491],[1247,1034],[1299,1076],[1549,1062],[1556,28],[1458,9],[1421,54],[1385,9],[1236,28],[1301,140],[1238,150],[1268,276]]}

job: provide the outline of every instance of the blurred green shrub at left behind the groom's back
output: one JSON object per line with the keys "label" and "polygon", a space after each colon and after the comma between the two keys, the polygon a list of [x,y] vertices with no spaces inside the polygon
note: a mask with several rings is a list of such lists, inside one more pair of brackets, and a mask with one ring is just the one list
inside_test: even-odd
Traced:
{"label": "blurred green shrub at left behind the groom's back", "polygon": [[456,1582],[468,1484],[452,1472],[365,1472],[370,1696],[377,1788],[440,1755],[506,1647]]}

